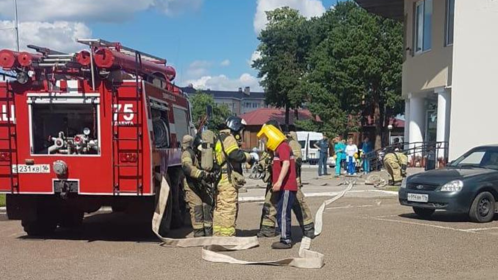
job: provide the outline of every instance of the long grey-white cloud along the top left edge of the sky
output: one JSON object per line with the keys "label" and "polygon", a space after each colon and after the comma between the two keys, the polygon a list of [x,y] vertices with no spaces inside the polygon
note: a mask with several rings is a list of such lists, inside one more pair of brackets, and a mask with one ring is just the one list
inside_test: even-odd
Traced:
{"label": "long grey-white cloud along the top left edge of the sky", "polygon": [[[17,0],[19,20],[124,21],[137,11],[155,8],[166,15],[198,9],[203,0]],[[0,16],[13,17],[11,0],[0,1]]]}

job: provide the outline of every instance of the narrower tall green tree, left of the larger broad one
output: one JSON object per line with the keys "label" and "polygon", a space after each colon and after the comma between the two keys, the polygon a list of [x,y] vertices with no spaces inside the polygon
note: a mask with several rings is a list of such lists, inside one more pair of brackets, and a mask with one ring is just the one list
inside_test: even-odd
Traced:
{"label": "narrower tall green tree, left of the larger broad one", "polygon": [[[285,108],[285,126],[291,109],[302,106],[306,98],[307,54],[311,35],[306,18],[289,7],[267,11],[268,24],[258,36],[261,58],[252,67],[259,70],[266,104]],[[296,114],[297,116],[297,114]]]}

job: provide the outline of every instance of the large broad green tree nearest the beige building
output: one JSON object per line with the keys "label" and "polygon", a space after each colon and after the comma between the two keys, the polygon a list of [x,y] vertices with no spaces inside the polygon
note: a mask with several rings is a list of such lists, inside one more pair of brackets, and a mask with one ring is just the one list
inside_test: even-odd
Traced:
{"label": "large broad green tree nearest the beige building", "polygon": [[388,120],[403,110],[401,24],[344,1],[312,25],[310,111],[321,117],[322,127],[342,135],[373,116],[380,148]]}

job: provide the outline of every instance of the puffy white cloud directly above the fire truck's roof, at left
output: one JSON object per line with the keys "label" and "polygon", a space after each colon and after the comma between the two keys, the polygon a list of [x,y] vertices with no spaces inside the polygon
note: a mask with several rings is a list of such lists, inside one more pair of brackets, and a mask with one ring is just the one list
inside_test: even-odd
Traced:
{"label": "puffy white cloud directly above the fire truck's roof, at left", "polygon": [[[0,21],[0,29],[13,26],[9,20]],[[85,46],[77,43],[75,38],[89,38],[92,31],[82,22],[19,22],[19,46],[22,50],[28,50],[27,44],[48,47],[62,52],[75,52],[84,49]],[[15,49],[15,35],[13,30],[0,32],[0,49]],[[30,50],[33,52],[33,50]]]}

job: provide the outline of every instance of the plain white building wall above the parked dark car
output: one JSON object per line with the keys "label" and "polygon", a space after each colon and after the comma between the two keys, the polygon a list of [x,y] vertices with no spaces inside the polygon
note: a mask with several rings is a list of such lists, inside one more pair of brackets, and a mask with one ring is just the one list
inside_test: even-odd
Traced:
{"label": "plain white building wall above the parked dark car", "polygon": [[498,0],[456,0],[450,160],[498,143]]}

